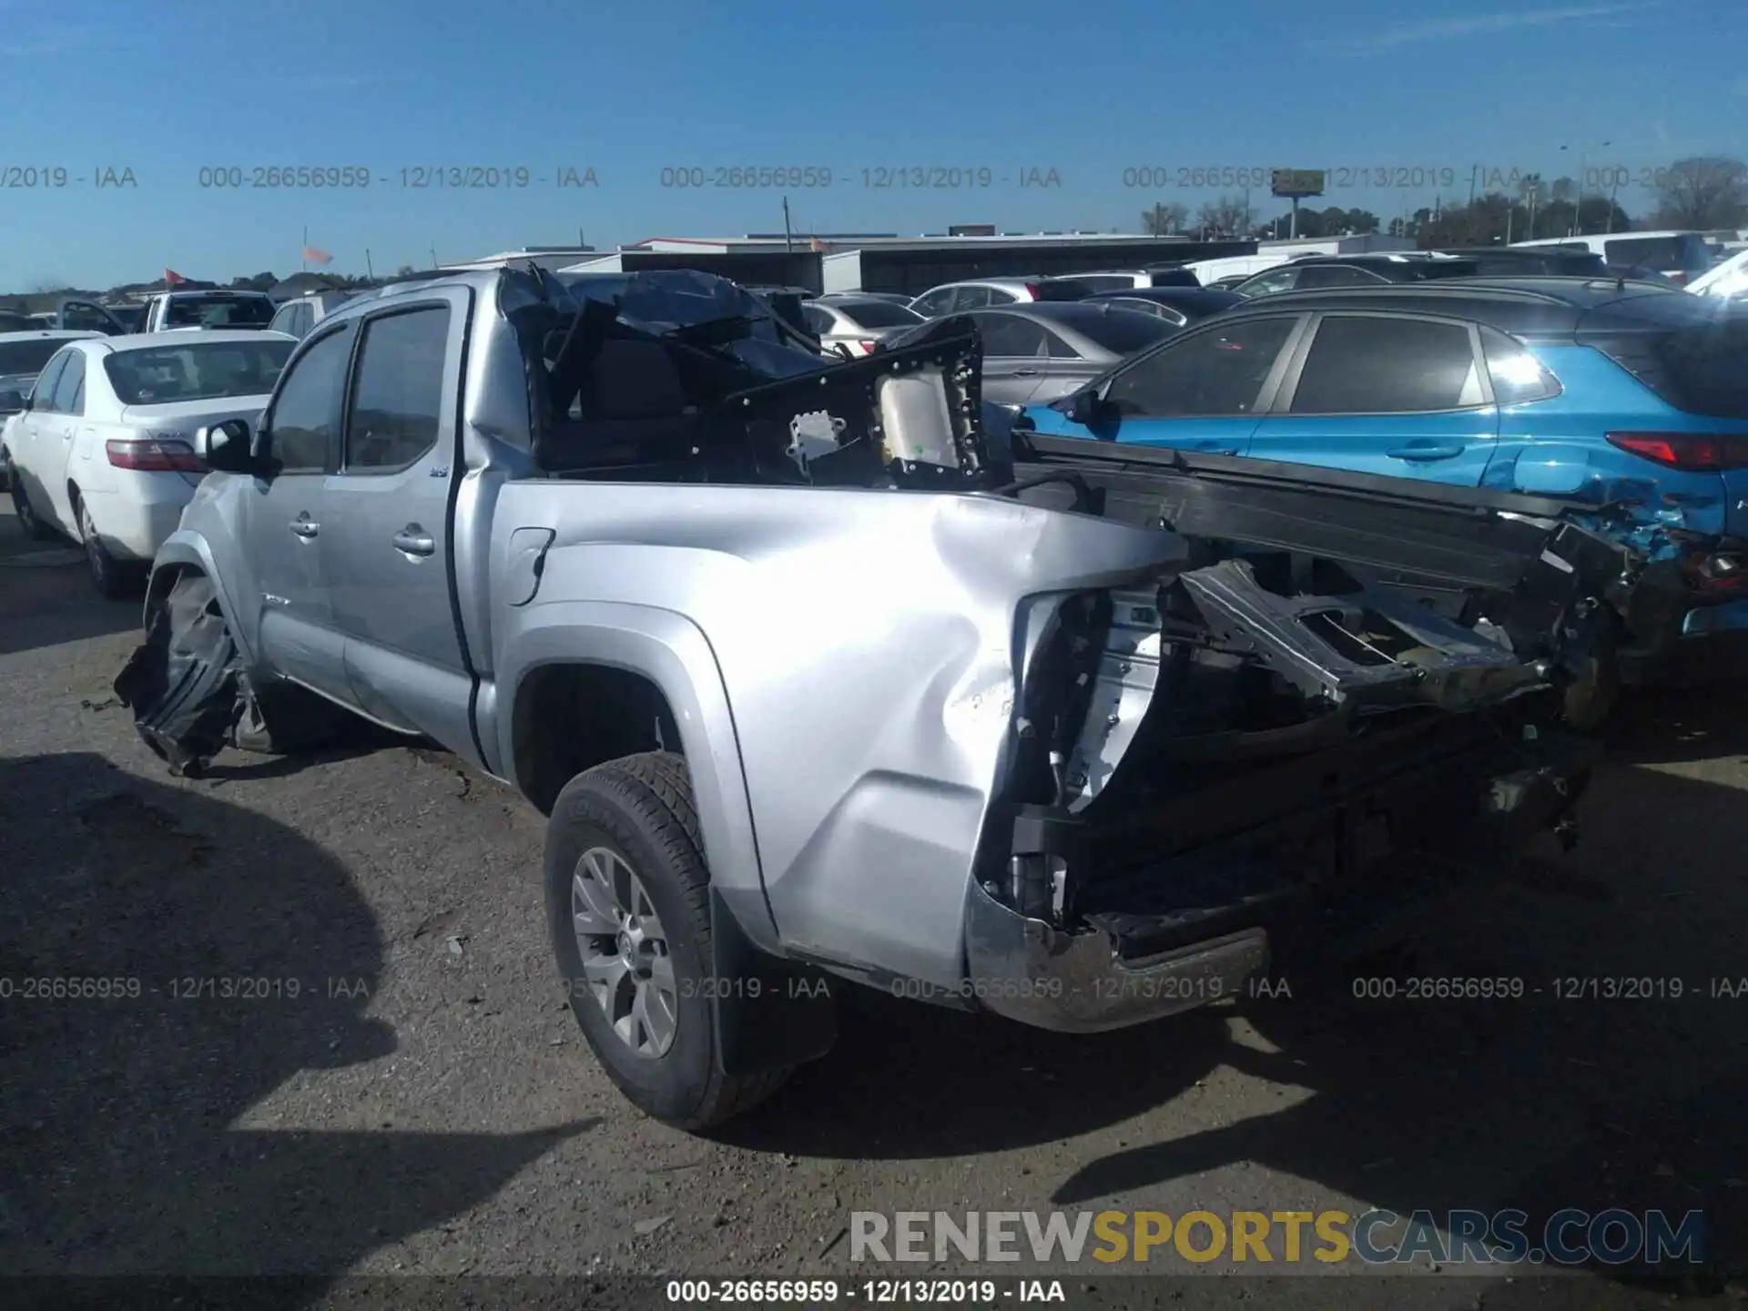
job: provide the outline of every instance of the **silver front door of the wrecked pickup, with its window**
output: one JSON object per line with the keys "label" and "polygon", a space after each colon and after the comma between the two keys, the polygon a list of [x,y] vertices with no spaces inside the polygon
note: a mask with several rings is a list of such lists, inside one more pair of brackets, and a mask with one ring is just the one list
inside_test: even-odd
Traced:
{"label": "silver front door of the wrecked pickup, with its window", "polygon": [[341,325],[287,365],[262,418],[274,474],[255,479],[245,524],[245,552],[257,568],[262,657],[344,704],[351,704],[351,685],[322,577],[322,535],[329,531],[325,484],[339,465],[341,392],[355,336],[350,323]]}

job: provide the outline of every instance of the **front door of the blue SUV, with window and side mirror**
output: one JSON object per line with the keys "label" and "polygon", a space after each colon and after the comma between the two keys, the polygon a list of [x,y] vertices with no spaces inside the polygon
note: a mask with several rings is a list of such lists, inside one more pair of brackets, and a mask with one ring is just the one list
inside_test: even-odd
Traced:
{"label": "front door of the blue SUV, with window and side mirror", "polygon": [[1173,337],[1122,365],[1099,388],[1110,420],[1084,428],[1049,407],[1028,414],[1040,432],[1246,454],[1257,416],[1281,385],[1309,315],[1259,315]]}

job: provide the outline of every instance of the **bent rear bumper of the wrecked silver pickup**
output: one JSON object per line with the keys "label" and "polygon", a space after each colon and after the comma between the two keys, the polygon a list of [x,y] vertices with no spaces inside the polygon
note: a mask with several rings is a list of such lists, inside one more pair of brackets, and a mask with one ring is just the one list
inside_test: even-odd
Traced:
{"label": "bent rear bumper of the wrecked silver pickup", "polygon": [[[1082,871],[1092,909],[1075,928],[1023,916],[974,883],[967,993],[1023,1024],[1094,1033],[1243,996],[1271,967],[1330,965],[1570,823],[1596,757],[1571,738],[1477,746],[1113,881]],[[1024,825],[1035,832],[1037,816]],[[1280,851],[1301,853],[1297,865]]]}

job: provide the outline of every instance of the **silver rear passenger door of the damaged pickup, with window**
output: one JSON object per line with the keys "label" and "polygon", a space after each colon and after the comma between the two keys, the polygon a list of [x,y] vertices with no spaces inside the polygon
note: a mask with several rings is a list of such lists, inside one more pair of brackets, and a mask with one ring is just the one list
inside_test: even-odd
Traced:
{"label": "silver rear passenger door of the damaged pickup, with window", "polygon": [[472,736],[472,673],[449,593],[468,295],[432,290],[362,320],[322,524],[357,704],[451,745]]}

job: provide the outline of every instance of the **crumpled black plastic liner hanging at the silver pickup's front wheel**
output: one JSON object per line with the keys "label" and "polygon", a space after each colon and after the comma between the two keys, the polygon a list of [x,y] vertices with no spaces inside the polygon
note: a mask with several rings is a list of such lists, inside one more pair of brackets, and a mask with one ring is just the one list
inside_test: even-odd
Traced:
{"label": "crumpled black plastic liner hanging at the silver pickup's front wheel", "polygon": [[177,579],[152,614],[145,643],[115,676],[117,699],[178,778],[199,778],[232,738],[243,697],[236,642],[212,582]]}

